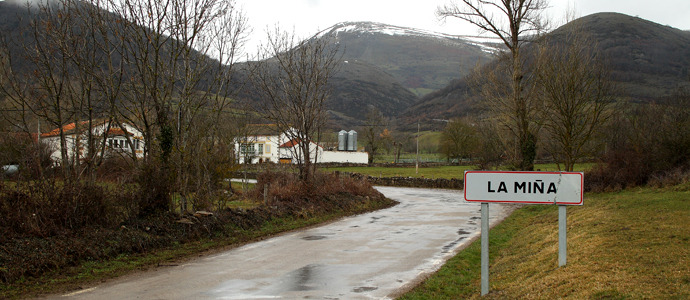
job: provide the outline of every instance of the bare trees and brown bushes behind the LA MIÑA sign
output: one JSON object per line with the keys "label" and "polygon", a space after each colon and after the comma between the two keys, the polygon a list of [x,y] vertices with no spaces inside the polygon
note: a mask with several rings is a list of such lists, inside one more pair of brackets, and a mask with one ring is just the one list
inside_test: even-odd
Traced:
{"label": "bare trees and brown bushes behind the LA MI\u00d1A sign", "polygon": [[[462,0],[439,7],[498,37],[507,51],[477,68],[472,89],[484,113],[450,120],[440,150],[480,168],[533,170],[537,155],[572,171],[584,159],[602,185],[645,184],[690,166],[686,130],[688,91],[651,104],[616,98],[608,57],[577,28],[544,35],[548,1]],[[570,20],[569,20],[570,21]],[[656,129],[652,129],[656,128]]]}

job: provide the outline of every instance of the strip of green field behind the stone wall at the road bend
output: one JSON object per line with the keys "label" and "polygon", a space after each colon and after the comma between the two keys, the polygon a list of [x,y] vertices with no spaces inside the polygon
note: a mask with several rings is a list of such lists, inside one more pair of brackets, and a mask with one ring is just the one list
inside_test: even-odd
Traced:
{"label": "strip of green field behind the stone wall at the road bend", "polygon": [[[594,164],[584,163],[575,166],[575,171],[585,171],[591,168]],[[375,177],[423,177],[423,178],[457,178],[462,179],[467,170],[474,170],[475,166],[441,166],[441,167],[427,167],[419,168],[415,171],[415,167],[342,167],[342,168],[323,168],[325,171],[340,171],[366,174]],[[534,167],[535,170],[541,171],[558,171],[556,164],[538,164]]]}

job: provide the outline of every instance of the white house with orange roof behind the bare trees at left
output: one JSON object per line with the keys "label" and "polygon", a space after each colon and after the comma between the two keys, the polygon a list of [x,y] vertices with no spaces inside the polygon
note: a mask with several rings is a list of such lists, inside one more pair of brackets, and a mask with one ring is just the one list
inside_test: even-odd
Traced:
{"label": "white house with orange roof behind the bare trees at left", "polygon": [[[75,157],[84,159],[88,155],[88,127],[88,121],[62,126],[67,146],[67,156],[70,160]],[[100,148],[99,146],[103,142],[103,138],[105,138],[106,151],[109,151],[111,154],[118,152],[131,154],[133,152],[137,158],[144,156],[144,137],[141,131],[134,126],[126,123],[118,126],[114,123],[109,124],[107,120],[97,120],[92,122],[91,133],[95,137],[97,148]],[[131,141],[131,145],[127,141],[128,138]],[[51,150],[50,158],[55,162],[60,162],[62,160],[60,153],[60,128],[41,134],[40,140],[41,143],[46,144]]]}

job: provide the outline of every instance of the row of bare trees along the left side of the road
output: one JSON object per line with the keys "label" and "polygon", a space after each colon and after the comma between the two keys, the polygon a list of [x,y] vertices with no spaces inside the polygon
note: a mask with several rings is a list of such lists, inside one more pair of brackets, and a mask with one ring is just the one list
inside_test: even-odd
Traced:
{"label": "row of bare trees along the left side of the road", "polygon": [[[251,134],[249,123],[275,123],[300,147],[319,139],[337,67],[328,41],[298,41],[276,28],[256,61],[238,63],[250,28],[235,1],[48,0],[23,9],[28,26],[0,34],[0,109],[6,131],[58,131],[57,167],[48,166],[45,147],[29,158],[21,153],[34,178],[93,184],[116,160],[150,191],[143,212],[170,210],[173,193],[187,211],[238,168],[235,143]],[[244,74],[266,101],[235,97]],[[70,123],[83,132],[75,149]],[[104,134],[90,130],[96,124],[107,124]],[[125,124],[143,135],[141,159],[108,151],[107,132]],[[124,137],[134,149],[137,141]],[[308,180],[310,151],[302,153],[300,174]]]}

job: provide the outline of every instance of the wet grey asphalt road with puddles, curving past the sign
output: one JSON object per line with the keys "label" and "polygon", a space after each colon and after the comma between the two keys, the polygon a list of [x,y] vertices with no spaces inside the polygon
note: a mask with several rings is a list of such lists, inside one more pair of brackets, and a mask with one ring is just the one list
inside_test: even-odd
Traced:
{"label": "wet grey asphalt road with puddles, curving past the sign", "polygon": [[[461,191],[377,189],[400,204],[56,298],[385,299],[479,236]],[[492,224],[508,211],[491,204]]]}

